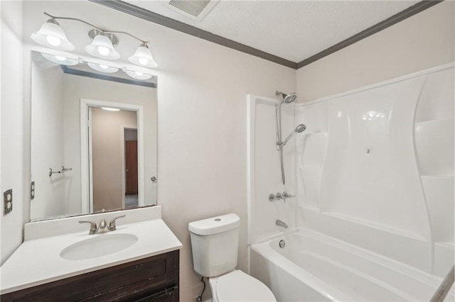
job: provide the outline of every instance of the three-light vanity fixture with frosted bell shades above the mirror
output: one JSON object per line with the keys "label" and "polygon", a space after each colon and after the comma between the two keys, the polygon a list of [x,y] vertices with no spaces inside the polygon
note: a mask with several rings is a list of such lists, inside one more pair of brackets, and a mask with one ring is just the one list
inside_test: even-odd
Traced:
{"label": "three-light vanity fixture with frosted bell shades above the mirror", "polygon": [[129,57],[129,61],[135,65],[141,67],[157,67],[154,58],[151,55],[149,50],[149,46],[147,45],[150,43],[146,40],[141,40],[137,38],[135,35],[131,33],[127,33],[124,31],[117,31],[117,30],[103,30],[101,28],[97,28],[96,26],[77,19],[77,18],[68,18],[68,17],[57,17],[51,16],[48,13],[44,13],[46,16],[49,16],[50,19],[41,26],[41,29],[38,30],[36,33],[31,34],[31,38],[41,45],[45,45],[50,48],[54,48],[57,50],[74,50],[75,47],[73,44],[68,41],[63,32],[63,29],[60,27],[60,24],[57,20],[73,20],[79,21],[81,23],[85,23],[88,26],[92,27],[92,30],[89,31],[88,35],[90,39],[92,39],[92,43],[90,45],[85,46],[85,51],[88,52],[90,55],[95,57],[100,57],[102,59],[107,60],[117,60],[120,57],[119,52],[115,50],[115,47],[119,44],[119,39],[117,38],[116,34],[124,34],[129,35],[130,37],[139,40],[141,45],[137,48],[134,55]]}

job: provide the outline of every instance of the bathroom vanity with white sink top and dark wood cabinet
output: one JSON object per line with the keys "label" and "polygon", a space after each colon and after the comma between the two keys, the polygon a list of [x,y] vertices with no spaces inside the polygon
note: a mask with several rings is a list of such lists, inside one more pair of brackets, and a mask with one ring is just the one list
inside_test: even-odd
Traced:
{"label": "bathroom vanity with white sink top and dark wood cabinet", "polygon": [[[178,301],[182,245],[161,220],[161,207],[129,210],[122,219],[117,230],[94,235],[78,223],[83,216],[26,228],[26,240],[0,268],[0,300]],[[37,237],[73,225],[87,230]]]}

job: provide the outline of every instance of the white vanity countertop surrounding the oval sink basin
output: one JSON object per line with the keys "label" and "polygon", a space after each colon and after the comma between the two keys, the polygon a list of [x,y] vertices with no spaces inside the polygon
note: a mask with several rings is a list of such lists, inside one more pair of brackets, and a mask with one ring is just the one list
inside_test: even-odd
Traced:
{"label": "white vanity countertop surrounding the oval sink basin", "polygon": [[[88,227],[87,225],[85,232],[23,242],[0,267],[0,294],[179,250],[182,247],[181,242],[161,219],[129,224],[118,222],[117,230],[95,235],[88,235]],[[122,233],[136,235],[137,242],[125,250],[92,259],[67,260],[60,257],[60,252],[73,243],[96,236]]]}

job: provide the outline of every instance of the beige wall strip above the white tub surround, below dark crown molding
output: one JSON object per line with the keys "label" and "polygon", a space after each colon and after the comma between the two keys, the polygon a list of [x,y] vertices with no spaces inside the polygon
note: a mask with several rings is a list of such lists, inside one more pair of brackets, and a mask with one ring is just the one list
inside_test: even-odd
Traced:
{"label": "beige wall strip above the white tub surround, below dark crown molding", "polygon": [[454,61],[454,1],[444,1],[297,70],[311,101]]}

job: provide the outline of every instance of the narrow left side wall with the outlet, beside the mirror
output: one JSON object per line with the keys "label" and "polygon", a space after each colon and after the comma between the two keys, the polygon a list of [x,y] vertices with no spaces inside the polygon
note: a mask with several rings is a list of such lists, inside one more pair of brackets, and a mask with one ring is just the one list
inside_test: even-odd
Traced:
{"label": "narrow left side wall with the outlet, beside the mirror", "polygon": [[22,8],[21,1],[0,1],[0,191],[13,189],[13,211],[4,216],[3,202],[0,206],[0,264],[21,244],[22,226],[29,217],[28,206],[23,203],[28,197],[29,172],[24,167],[29,169],[30,136],[25,134],[29,128],[24,125]]}

